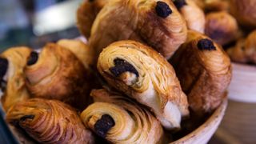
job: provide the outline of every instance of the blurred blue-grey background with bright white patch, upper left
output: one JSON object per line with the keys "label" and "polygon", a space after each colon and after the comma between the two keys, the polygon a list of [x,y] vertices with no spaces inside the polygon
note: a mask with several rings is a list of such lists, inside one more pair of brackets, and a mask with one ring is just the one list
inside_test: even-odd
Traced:
{"label": "blurred blue-grey background with bright white patch, upper left", "polygon": [[0,52],[10,46],[40,48],[76,38],[76,10],[82,0],[0,0]]}

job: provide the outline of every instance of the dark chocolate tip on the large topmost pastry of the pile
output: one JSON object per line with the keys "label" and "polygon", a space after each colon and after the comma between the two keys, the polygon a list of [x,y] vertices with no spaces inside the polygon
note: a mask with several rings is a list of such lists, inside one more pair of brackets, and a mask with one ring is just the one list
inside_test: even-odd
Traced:
{"label": "dark chocolate tip on the large topmost pastry of the pile", "polygon": [[157,6],[155,6],[155,11],[157,12],[159,17],[167,18],[171,13],[170,7],[166,4],[166,2],[157,2]]}

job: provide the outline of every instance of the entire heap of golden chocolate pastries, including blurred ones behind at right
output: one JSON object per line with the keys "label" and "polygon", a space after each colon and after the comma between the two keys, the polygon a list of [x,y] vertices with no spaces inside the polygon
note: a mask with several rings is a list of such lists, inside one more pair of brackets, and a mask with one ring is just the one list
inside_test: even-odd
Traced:
{"label": "entire heap of golden chocolate pastries, including blurred ones behind at right", "polygon": [[181,138],[226,98],[231,65],[222,46],[234,45],[228,49],[234,61],[256,61],[256,32],[244,30],[256,26],[254,6],[253,0],[85,0],[77,19],[88,43],[62,39],[0,55],[6,122],[24,143]]}

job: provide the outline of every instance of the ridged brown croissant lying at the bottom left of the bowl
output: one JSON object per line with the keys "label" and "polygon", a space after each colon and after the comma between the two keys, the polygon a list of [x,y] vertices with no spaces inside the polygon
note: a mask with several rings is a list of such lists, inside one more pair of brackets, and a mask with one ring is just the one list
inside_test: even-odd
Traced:
{"label": "ridged brown croissant lying at the bottom left of the bowl", "polygon": [[6,114],[6,121],[40,143],[94,143],[78,113],[56,100],[31,98],[18,102]]}

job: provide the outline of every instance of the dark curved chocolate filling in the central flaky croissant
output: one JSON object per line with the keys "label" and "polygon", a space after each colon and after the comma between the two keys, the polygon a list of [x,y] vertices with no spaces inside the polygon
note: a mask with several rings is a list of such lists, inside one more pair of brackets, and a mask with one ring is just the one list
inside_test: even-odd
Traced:
{"label": "dark curved chocolate filling in the central flaky croissant", "polygon": [[134,68],[134,66],[121,58],[115,58],[114,67],[110,67],[110,72],[114,74],[115,77],[118,77],[120,74],[126,71],[136,74],[136,76],[138,77],[138,71]]}

